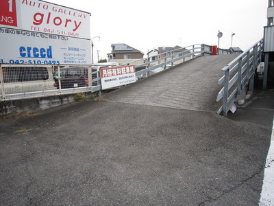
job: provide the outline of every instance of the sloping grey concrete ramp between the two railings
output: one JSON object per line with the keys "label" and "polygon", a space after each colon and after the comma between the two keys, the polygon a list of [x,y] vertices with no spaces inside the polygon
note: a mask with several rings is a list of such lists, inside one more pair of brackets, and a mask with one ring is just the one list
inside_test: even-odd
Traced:
{"label": "sloping grey concrete ramp between the two railings", "polygon": [[221,89],[221,69],[236,58],[233,55],[204,56],[110,93],[110,102],[164,106],[216,112],[216,95]]}

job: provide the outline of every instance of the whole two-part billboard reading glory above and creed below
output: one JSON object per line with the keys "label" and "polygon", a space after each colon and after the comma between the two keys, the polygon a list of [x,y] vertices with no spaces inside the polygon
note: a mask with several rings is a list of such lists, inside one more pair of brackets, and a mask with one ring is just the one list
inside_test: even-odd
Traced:
{"label": "whole two-part billboard reading glory above and creed below", "polygon": [[90,65],[90,14],[38,0],[0,0],[0,63]]}

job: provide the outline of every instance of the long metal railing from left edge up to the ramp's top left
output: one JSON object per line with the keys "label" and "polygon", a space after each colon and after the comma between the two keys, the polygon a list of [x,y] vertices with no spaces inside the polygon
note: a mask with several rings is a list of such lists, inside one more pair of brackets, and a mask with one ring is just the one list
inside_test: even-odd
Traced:
{"label": "long metal railing from left edge up to the ramp's top left", "polygon": [[[181,62],[211,54],[208,45],[190,45],[123,65],[135,65],[136,77],[149,76]],[[119,67],[123,66],[119,65]],[[157,72],[158,72],[157,71]],[[144,75],[145,74],[145,75]],[[40,98],[51,95],[101,91],[99,69],[95,65],[1,65],[0,101]]]}

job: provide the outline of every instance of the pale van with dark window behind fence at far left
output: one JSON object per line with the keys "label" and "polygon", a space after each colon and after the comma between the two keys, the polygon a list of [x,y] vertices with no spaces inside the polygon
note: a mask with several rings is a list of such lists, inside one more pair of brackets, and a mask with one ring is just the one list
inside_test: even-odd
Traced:
{"label": "pale van with dark window behind fence at far left", "polygon": [[[47,65],[2,66],[5,94],[54,90],[53,67]],[[0,89],[1,94],[1,89]]]}

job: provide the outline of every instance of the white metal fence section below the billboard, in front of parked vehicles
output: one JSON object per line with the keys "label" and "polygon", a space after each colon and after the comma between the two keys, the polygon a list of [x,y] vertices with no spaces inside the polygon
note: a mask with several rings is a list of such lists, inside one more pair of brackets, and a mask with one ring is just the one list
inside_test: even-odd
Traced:
{"label": "white metal fence section below the billboard, in front of parked vehicles", "polygon": [[98,74],[92,67],[2,64],[0,101],[98,91]]}

